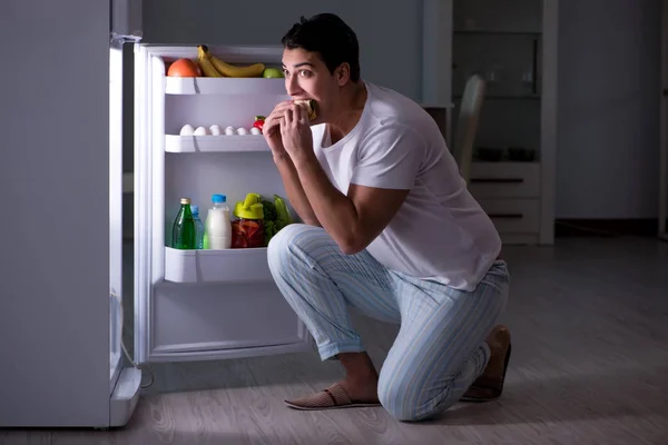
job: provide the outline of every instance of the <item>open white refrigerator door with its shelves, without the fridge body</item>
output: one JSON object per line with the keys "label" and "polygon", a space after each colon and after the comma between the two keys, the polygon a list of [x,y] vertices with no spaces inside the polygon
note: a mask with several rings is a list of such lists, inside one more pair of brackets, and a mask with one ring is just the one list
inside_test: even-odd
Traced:
{"label": "open white refrigerator door with its shelves, without the fridge body", "polygon": [[[229,63],[281,67],[281,47],[209,46]],[[286,198],[262,135],[179,136],[184,125],[253,126],[288,98],[284,79],[167,77],[195,46],[138,43],[135,59],[135,356],[138,363],[236,358],[311,347],[269,274],[267,249],[170,246],[183,197],[200,218],[212,195]],[[293,212],[294,215],[294,212]]]}

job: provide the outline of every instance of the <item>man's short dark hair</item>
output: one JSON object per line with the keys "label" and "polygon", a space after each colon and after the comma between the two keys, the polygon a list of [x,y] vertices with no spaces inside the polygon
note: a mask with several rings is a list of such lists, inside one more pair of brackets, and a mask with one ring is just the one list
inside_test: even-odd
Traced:
{"label": "man's short dark hair", "polygon": [[281,42],[287,49],[301,48],[318,53],[332,75],[341,63],[347,62],[351,66],[351,80],[360,80],[357,36],[336,14],[321,13],[310,19],[302,17]]}

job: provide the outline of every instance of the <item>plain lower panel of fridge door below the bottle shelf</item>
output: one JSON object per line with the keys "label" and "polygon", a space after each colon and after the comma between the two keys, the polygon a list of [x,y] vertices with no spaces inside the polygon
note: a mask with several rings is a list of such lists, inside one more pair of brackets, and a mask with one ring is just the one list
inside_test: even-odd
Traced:
{"label": "plain lower panel of fridge door below the bottle shelf", "polygon": [[[273,281],[154,287],[155,359],[233,357],[248,349],[308,347],[308,334]],[[261,355],[261,354],[255,354]]]}

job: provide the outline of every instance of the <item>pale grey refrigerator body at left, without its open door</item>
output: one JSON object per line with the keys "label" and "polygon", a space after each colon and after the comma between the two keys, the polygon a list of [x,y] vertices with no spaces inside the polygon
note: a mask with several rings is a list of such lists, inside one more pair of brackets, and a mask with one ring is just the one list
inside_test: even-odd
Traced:
{"label": "pale grey refrigerator body at left, without its open door", "polygon": [[139,370],[121,369],[122,78],[110,44],[116,14],[137,23],[137,11],[2,6],[0,427],[119,426],[138,399]]}

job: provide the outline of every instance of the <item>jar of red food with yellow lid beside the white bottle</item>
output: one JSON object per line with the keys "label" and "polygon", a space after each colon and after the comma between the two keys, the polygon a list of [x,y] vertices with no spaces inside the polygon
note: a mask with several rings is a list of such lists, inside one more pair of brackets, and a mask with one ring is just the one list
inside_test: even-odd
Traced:
{"label": "jar of red food with yellow lid beside the white bottle", "polygon": [[245,200],[234,206],[234,216],[237,219],[232,221],[232,248],[265,247],[264,208],[261,196],[246,195]]}

